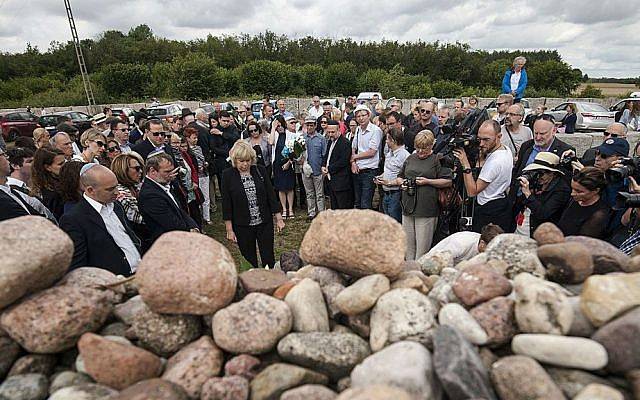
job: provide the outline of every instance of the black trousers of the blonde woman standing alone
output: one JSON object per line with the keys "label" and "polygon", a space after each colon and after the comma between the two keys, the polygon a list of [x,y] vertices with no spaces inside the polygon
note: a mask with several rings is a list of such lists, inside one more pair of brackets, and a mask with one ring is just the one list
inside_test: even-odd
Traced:
{"label": "black trousers of the blonde woman standing alone", "polygon": [[240,254],[249,261],[254,268],[258,268],[258,255],[256,253],[256,242],[260,250],[260,260],[262,266],[273,268],[275,265],[275,255],[273,254],[273,220],[269,218],[256,226],[233,225],[233,232],[238,240]]}

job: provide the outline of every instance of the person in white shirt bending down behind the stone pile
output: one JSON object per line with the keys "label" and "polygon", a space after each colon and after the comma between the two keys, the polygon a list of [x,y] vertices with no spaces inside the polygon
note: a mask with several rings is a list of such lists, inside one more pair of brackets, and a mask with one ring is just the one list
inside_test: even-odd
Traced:
{"label": "person in white shirt bending down behind the stone pile", "polygon": [[427,254],[449,252],[453,256],[453,265],[457,265],[484,253],[489,242],[501,233],[504,233],[502,228],[494,224],[484,226],[481,233],[456,232],[438,242]]}

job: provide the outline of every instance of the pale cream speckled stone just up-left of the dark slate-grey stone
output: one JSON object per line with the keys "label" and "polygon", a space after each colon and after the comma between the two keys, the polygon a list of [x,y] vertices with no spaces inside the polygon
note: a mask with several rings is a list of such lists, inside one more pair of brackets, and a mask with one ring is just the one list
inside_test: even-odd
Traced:
{"label": "pale cream speckled stone just up-left of the dark slate-grey stone", "polygon": [[371,313],[371,350],[402,340],[429,345],[435,314],[433,303],[415,289],[394,289],[383,294]]}

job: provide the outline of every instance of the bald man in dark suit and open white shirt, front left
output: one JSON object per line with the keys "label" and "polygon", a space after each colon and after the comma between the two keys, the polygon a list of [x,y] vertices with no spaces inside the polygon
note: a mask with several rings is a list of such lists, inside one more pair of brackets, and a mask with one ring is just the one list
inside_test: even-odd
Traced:
{"label": "bald man in dark suit and open white shirt, front left", "polygon": [[118,180],[111,170],[87,164],[80,170],[84,194],[60,219],[60,228],[73,241],[71,269],[98,267],[129,276],[140,262],[140,239],[116,202]]}

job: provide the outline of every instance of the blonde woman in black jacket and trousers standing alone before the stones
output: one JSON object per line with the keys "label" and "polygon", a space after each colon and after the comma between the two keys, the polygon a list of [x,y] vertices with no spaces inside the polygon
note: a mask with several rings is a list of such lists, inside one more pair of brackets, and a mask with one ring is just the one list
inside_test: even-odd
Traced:
{"label": "blonde woman in black jacket and trousers standing alone before the stones", "polygon": [[240,253],[258,268],[256,241],[263,267],[275,264],[273,220],[280,232],[284,220],[280,204],[266,169],[256,165],[256,152],[245,141],[237,141],[229,151],[232,168],[222,177],[222,219],[227,239],[238,243]]}

